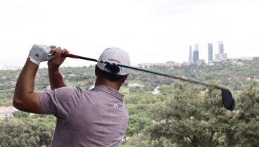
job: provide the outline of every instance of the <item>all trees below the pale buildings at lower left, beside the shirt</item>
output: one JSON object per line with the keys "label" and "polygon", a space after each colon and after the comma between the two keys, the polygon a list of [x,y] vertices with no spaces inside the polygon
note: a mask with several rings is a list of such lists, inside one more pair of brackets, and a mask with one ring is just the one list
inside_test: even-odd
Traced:
{"label": "all trees below the pale buildings at lower left, beside the shirt", "polygon": [[50,146],[56,117],[53,115],[32,115],[22,111],[12,113],[15,118],[10,120],[6,115],[0,120],[0,146],[41,147]]}

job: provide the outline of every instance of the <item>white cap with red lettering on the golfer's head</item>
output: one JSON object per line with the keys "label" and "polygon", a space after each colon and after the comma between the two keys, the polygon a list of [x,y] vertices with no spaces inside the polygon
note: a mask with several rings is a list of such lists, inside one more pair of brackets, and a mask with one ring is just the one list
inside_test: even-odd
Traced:
{"label": "white cap with red lettering on the golfer's head", "polygon": [[[99,60],[107,61],[109,63],[116,63],[121,65],[130,66],[130,56],[127,54],[126,51],[120,49],[120,48],[108,48],[101,53],[101,56],[99,57]],[[106,72],[110,72],[107,68],[104,66],[106,63],[97,63],[97,66]],[[120,67],[120,72],[117,73],[117,75],[127,75],[130,73],[130,68],[122,68]],[[113,73],[113,72],[110,72]],[[114,73],[113,73],[114,74]]]}

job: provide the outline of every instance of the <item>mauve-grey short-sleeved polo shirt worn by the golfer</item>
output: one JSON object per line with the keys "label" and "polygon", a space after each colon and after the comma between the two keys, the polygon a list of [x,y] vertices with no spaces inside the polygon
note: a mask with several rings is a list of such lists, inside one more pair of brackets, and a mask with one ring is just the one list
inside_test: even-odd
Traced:
{"label": "mauve-grey short-sleeved polo shirt worn by the golfer", "polygon": [[57,117],[51,147],[118,146],[129,120],[123,97],[106,86],[39,93],[44,113]]}

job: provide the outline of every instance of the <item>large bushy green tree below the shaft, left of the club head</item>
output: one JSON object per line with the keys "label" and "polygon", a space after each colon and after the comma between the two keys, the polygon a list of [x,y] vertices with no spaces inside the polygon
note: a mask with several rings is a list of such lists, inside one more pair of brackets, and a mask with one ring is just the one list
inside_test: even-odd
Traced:
{"label": "large bushy green tree below the shaft, left of the club head", "polygon": [[203,95],[202,87],[198,89],[179,82],[175,87],[174,98],[166,106],[153,108],[152,113],[159,123],[146,127],[145,134],[153,140],[164,137],[179,146],[227,145],[222,138],[232,130],[234,114],[222,108],[220,91],[209,88],[210,94]]}

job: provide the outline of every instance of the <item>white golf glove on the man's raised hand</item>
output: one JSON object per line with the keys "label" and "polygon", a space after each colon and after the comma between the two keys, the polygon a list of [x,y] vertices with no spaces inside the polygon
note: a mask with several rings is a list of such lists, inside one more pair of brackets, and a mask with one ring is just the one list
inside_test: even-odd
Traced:
{"label": "white golf glove on the man's raised hand", "polygon": [[30,58],[33,63],[39,65],[42,61],[48,61],[56,57],[54,55],[49,55],[50,52],[51,46],[34,44],[30,50],[28,58]]}

